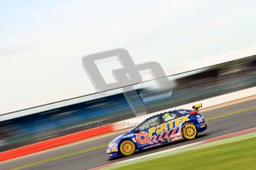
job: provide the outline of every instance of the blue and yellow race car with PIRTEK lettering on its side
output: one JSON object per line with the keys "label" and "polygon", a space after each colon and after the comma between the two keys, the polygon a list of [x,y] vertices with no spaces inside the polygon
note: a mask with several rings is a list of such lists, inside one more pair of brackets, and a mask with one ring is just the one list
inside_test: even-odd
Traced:
{"label": "blue and yellow race car with PIRTEK lettering on its side", "polygon": [[108,144],[108,158],[130,156],[136,151],[176,140],[193,140],[199,132],[207,129],[200,107],[202,103],[192,106],[193,110],[171,110],[147,118]]}

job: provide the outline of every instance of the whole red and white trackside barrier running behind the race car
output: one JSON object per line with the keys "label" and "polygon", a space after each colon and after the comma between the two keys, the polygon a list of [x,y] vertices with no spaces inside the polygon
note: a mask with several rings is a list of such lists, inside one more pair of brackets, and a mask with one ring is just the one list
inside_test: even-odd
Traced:
{"label": "whole red and white trackside barrier running behind the race car", "polygon": [[[222,103],[227,103],[230,101],[235,101],[241,98],[246,98],[249,96],[253,96],[256,95],[256,86],[249,88],[249,89],[243,89],[237,92],[231,92],[229,94],[226,95],[219,95],[217,97],[214,98],[208,98],[202,101],[198,101],[199,103],[203,103],[203,108],[207,108],[207,107],[211,107],[211,106],[217,106],[219,104]],[[194,103],[187,103],[183,106],[177,106],[175,108],[170,108],[170,109],[188,109],[191,108],[191,106]],[[120,130],[120,129],[127,129],[127,128],[131,128],[132,126],[137,125],[137,123],[141,123],[142,120],[145,120],[145,118],[148,118],[152,115],[155,115],[157,113],[160,112],[165,112],[168,111],[170,109],[165,109],[159,112],[154,112],[148,115],[143,115],[137,118],[131,118],[128,120],[123,120],[123,121],[119,121],[117,123],[112,123],[112,124],[108,124],[105,126],[99,126],[93,129],[88,129],[82,132],[76,132],[74,134],[71,135],[65,135],[62,137],[56,137],[54,139],[51,140],[45,140],[43,142],[40,143],[35,143],[29,146],[24,146],[18,149],[12,149],[10,151],[7,152],[1,152],[0,153],[0,162],[1,161],[5,161],[5,160],[11,160],[17,157],[22,157],[28,154],[34,154],[36,152],[42,152],[45,151],[47,149],[53,149],[57,146],[63,146],[69,143],[73,143],[79,140],[85,140],[89,137],[95,137],[98,135],[103,135],[105,133],[109,133],[109,132],[114,132],[116,130]]]}

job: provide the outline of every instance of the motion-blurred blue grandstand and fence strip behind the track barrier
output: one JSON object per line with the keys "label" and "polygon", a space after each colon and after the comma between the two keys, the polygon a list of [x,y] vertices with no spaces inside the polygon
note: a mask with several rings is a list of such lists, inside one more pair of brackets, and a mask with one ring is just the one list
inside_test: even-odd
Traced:
{"label": "motion-blurred blue grandstand and fence strip behind the track barrier", "polygon": [[[256,55],[169,75],[168,79],[172,84],[172,95],[168,98],[144,102],[148,113],[256,86]],[[143,82],[142,86],[136,89],[137,94],[148,89],[154,92],[155,81],[157,80]],[[0,117],[1,152],[134,118],[134,113],[124,95],[119,93],[118,89],[112,90],[111,94],[114,95],[85,95],[10,112],[4,114],[10,116],[5,120],[2,115]]]}

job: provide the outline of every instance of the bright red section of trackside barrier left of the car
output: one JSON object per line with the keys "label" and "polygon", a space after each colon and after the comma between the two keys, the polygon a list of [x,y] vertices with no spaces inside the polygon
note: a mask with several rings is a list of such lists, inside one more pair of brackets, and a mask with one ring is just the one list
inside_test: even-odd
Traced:
{"label": "bright red section of trackside barrier left of the car", "polygon": [[65,135],[62,137],[56,137],[54,139],[45,140],[39,143],[35,143],[29,146],[23,146],[18,149],[12,149],[7,152],[0,153],[0,162],[4,160],[11,160],[17,157],[22,157],[28,154],[33,154],[36,152],[42,152],[47,149],[52,149],[57,146],[63,146],[68,143],[73,143],[79,140],[85,140],[88,137],[93,137],[97,135],[102,135],[108,132],[113,132],[112,125],[99,126],[93,129],[88,129],[82,132],[76,132],[74,134]]}

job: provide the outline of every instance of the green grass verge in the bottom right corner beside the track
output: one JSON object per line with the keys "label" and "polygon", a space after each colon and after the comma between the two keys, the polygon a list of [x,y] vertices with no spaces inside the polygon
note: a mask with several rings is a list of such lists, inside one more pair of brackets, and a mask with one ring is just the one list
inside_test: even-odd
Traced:
{"label": "green grass verge in the bottom right corner beside the track", "polygon": [[146,160],[117,169],[256,169],[256,137]]}

